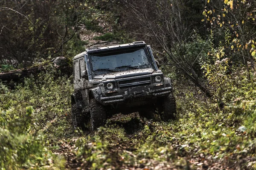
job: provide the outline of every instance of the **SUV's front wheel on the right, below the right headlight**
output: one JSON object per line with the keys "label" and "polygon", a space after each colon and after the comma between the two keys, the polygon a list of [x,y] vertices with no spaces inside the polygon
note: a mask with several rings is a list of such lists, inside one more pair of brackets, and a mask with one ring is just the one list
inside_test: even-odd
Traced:
{"label": "SUV's front wheel on the right, below the right headlight", "polygon": [[161,118],[166,122],[170,119],[177,119],[176,102],[172,93],[163,98],[163,115]]}

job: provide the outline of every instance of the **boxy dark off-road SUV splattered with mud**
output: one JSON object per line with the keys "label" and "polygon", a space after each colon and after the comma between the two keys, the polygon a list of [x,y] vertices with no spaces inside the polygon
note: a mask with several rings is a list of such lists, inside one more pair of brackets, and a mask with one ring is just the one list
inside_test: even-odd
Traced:
{"label": "boxy dark off-road SUV splattered with mud", "polygon": [[163,121],[176,117],[171,80],[143,41],[88,48],[74,57],[73,74],[74,128],[94,130],[117,113],[139,112],[147,119],[157,113]]}

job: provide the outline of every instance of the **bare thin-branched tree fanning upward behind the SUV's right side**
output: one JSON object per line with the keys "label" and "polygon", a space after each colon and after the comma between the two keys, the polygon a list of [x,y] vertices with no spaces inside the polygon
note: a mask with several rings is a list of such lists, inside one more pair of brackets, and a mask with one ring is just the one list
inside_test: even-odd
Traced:
{"label": "bare thin-branched tree fanning upward behind the SUV's right side", "polygon": [[[195,42],[196,32],[205,32],[201,23],[201,13],[204,2],[195,0],[120,0],[122,8],[135,22],[137,33],[151,37],[151,44],[157,44],[163,49],[163,55],[168,57],[186,77],[195,83],[207,96],[207,89],[198,62],[202,57],[205,45],[198,44],[197,54],[192,54],[189,43]],[[116,3],[116,4],[118,4]],[[120,5],[121,4],[121,5]],[[168,62],[165,60],[164,62]]]}

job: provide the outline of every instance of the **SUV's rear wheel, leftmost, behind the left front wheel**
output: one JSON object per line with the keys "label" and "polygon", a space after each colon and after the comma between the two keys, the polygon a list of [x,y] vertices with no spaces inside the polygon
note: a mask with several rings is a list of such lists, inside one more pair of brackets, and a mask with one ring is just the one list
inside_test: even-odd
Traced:
{"label": "SUV's rear wheel, leftmost, behind the left front wheel", "polygon": [[72,122],[73,122],[73,127],[74,129],[77,129],[78,127],[80,127],[81,129],[84,129],[84,114],[82,113],[82,111],[77,108],[76,104],[72,105],[71,108],[72,111]]}

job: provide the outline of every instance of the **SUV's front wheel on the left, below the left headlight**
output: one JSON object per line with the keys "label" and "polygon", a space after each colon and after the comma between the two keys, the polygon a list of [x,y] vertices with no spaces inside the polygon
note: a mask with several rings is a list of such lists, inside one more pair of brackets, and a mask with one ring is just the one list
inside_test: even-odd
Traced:
{"label": "SUV's front wheel on the left, below the left headlight", "polygon": [[96,130],[100,126],[106,124],[105,108],[95,99],[90,101],[91,129]]}

